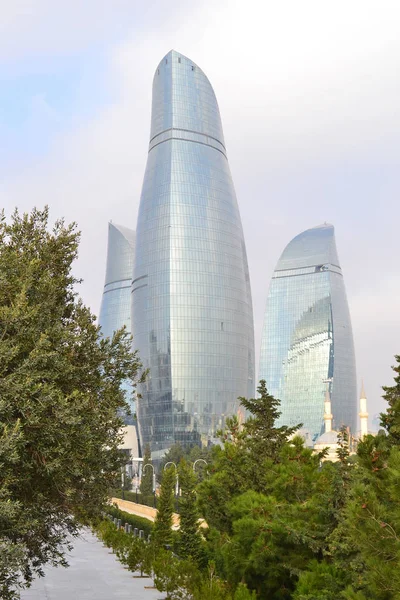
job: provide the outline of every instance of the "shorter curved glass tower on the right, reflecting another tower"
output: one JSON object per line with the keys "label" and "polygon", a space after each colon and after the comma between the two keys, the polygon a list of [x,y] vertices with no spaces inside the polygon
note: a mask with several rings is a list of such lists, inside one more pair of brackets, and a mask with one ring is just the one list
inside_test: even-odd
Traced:
{"label": "shorter curved glass tower on the right, reflecting another tower", "polygon": [[269,288],[259,379],[281,400],[279,423],[324,431],[324,398],[331,394],[333,425],[357,430],[353,334],[334,228],[296,236],[280,257]]}

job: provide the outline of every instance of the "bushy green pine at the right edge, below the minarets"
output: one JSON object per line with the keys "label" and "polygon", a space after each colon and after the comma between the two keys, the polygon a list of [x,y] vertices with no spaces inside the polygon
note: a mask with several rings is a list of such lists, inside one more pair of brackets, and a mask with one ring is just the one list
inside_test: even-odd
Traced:
{"label": "bushy green pine at the right edge, below the minarets", "polygon": [[342,450],[340,462],[330,466],[336,472],[329,493],[331,514],[328,497],[322,505],[334,528],[322,560],[310,562],[300,574],[294,599],[396,599],[400,597],[400,449],[391,446],[388,436],[369,435],[359,443],[355,463],[346,448]]}

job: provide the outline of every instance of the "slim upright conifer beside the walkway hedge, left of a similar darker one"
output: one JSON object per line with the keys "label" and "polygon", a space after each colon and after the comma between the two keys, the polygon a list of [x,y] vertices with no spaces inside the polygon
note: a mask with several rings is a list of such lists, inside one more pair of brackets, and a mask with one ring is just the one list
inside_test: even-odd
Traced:
{"label": "slim upright conifer beside the walkway hedge, left of a similar darker one", "polygon": [[174,512],[175,467],[163,472],[157,516],[154,521],[153,541],[158,547],[172,544],[172,515]]}

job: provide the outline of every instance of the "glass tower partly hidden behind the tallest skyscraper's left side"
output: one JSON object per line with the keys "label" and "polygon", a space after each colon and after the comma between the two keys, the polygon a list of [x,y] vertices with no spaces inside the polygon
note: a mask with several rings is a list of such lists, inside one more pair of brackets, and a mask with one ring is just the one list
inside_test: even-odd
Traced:
{"label": "glass tower partly hidden behind the tallest skyscraper's left side", "polygon": [[[104,337],[112,337],[124,325],[128,333],[132,332],[130,292],[134,255],[135,232],[109,223],[106,277],[99,314],[99,325]],[[124,387],[134,413],[132,387],[129,383]],[[132,416],[127,415],[125,421],[131,424]]]}

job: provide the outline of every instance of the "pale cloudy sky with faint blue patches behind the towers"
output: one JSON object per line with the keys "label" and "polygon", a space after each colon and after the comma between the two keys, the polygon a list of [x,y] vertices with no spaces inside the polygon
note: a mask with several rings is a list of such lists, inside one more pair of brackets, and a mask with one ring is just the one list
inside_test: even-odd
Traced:
{"label": "pale cloudy sky with faint blue patches behind the towers", "polygon": [[[151,85],[171,49],[219,101],[252,280],[333,223],[370,415],[400,353],[398,0],[0,0],[0,200],[82,230],[98,313],[107,222],[135,228]],[[360,383],[359,383],[360,385]]]}

